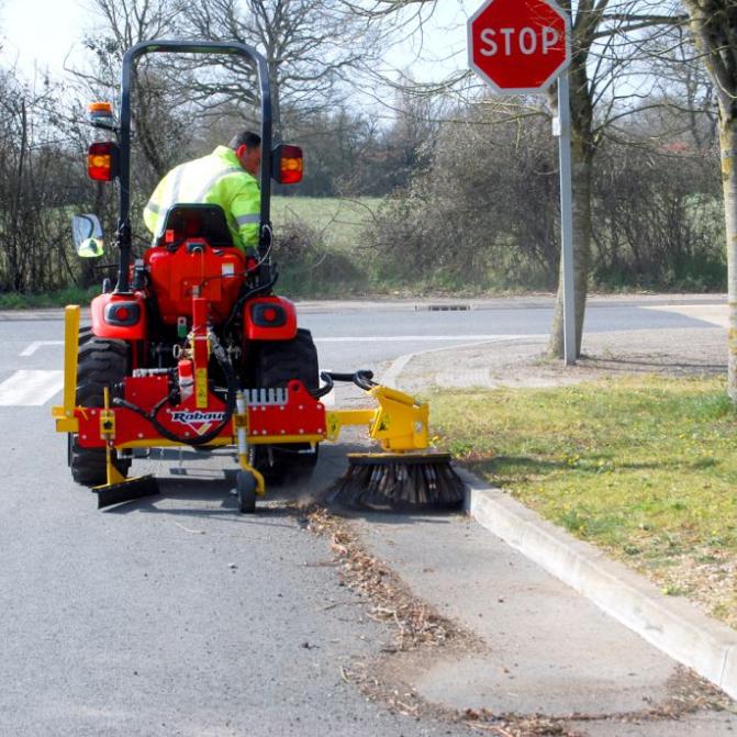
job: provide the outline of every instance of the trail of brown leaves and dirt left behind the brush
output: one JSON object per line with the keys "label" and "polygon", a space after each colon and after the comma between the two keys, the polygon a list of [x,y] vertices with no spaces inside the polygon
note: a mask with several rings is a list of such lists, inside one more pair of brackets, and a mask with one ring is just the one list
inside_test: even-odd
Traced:
{"label": "trail of brown leaves and dirt left behind the brush", "polygon": [[444,658],[488,652],[485,643],[414,596],[383,560],[367,552],[350,520],[319,506],[303,514],[308,528],[328,539],[342,582],[360,598],[368,616],[386,624],[392,633],[392,641],[384,644],[376,658],[355,659],[342,666],[340,678],[395,713],[464,724],[470,730],[496,737],[584,737],[585,724],[593,722],[667,722],[700,710],[729,708],[729,700],[718,689],[680,667],[663,703],[646,703],[641,711],[626,714],[571,713],[550,717],[456,711],[429,703],[407,683],[406,673],[428,668],[440,652]]}

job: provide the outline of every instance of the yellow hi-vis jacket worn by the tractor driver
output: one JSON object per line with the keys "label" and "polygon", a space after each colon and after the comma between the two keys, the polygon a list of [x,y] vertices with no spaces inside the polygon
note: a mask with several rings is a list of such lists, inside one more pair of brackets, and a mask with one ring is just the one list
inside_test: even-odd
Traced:
{"label": "yellow hi-vis jacket worn by the tractor driver", "polygon": [[245,250],[258,245],[261,203],[258,182],[241,166],[232,148],[217,146],[209,156],[171,169],[150,196],[143,220],[157,238],[171,205],[201,202],[223,209],[238,248]]}

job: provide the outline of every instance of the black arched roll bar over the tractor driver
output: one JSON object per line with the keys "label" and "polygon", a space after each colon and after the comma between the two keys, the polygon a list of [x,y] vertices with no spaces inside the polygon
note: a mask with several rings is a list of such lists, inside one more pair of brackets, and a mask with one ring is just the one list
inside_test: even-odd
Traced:
{"label": "black arched roll bar over the tractor driver", "polygon": [[131,77],[133,63],[145,54],[233,54],[245,56],[258,74],[261,98],[261,211],[260,243],[265,243],[266,230],[271,220],[271,91],[266,59],[250,46],[236,42],[219,41],[143,41],[131,46],[123,56],[120,118],[120,215],[118,220],[118,245],[120,247],[120,271],[115,291],[127,292],[131,265]]}

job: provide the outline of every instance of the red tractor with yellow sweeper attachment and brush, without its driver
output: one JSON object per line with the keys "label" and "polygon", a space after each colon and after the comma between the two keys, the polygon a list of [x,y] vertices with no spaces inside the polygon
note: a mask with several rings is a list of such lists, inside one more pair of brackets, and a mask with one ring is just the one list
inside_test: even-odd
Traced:
{"label": "red tractor with yellow sweeper attachment and brush, without its driver", "polygon": [[[263,149],[256,253],[234,246],[220,206],[177,203],[160,235],[133,259],[131,79],[134,62],[153,53],[237,55],[255,67]],[[116,286],[105,280],[92,300],[90,326],[80,327],[79,306],[66,309],[64,400],[53,413],[67,434],[71,476],[103,507],[158,492],[153,477],[126,478],[136,449],[233,446],[238,507],[254,512],[267,481],[309,473],[321,443],[364,425],[382,453],[349,456],[332,499],[378,509],[458,507],[464,485],[448,456],[427,453],[427,405],[376,384],[369,371],[320,375],[310,332],[273,292],[271,179],[300,181],[302,152],[272,146],[268,79],[264,57],[243,44],[143,42],[123,57],[120,122],[109,103],[90,105],[92,125],[110,139],[90,146],[88,169],[99,181],[118,180],[120,264]],[[94,215],[75,217],[72,231],[80,256],[102,254]],[[355,382],[378,406],[328,411],[321,399],[334,381]]]}

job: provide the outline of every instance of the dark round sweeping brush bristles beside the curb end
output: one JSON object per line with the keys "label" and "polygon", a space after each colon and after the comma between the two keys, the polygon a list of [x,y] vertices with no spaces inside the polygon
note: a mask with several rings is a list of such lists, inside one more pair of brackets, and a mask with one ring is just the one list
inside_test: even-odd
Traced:
{"label": "dark round sweeping brush bristles beside the curb end", "polygon": [[349,455],[326,501],[382,511],[457,510],[465,485],[447,454]]}

